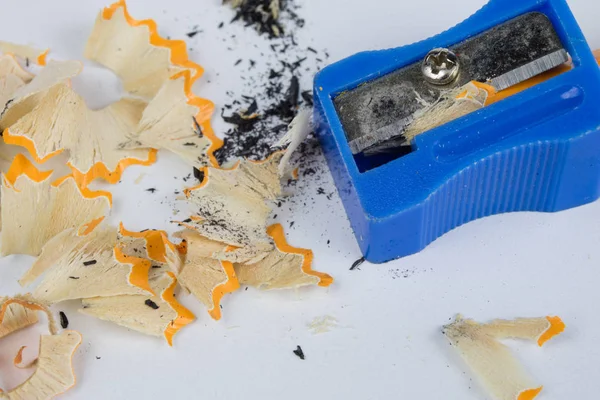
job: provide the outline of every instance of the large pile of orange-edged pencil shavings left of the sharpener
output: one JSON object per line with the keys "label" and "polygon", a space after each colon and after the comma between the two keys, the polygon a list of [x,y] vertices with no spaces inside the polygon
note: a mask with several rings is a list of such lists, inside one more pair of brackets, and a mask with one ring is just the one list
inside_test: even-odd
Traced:
{"label": "large pile of orange-edged pencil shavings left of the sharpener", "polygon": [[[192,92],[202,68],[188,59],[183,41],[160,37],[152,20],[134,20],[124,1],[100,13],[85,48],[128,92],[102,110],[90,110],[71,88],[81,63],[47,60],[48,51],[4,42],[0,51],[0,151],[12,159],[0,165],[0,253],[37,257],[19,281],[31,293],[0,298],[0,338],[35,324],[38,311],[50,321],[50,335],[29,365],[36,372],[0,398],[46,399],[74,384],[70,359],[81,337],[58,333],[51,305],[80,300],[84,314],[172,344],[195,319],[175,298],[180,287],[219,319],[223,295],[240,284],[286,289],[333,282],[312,270],[310,250],[290,246],[280,225],[267,226],[274,202],[285,195],[282,181],[294,175],[287,164],[310,129],[307,113],[284,138],[287,150],[219,166],[214,105]],[[30,62],[39,65],[37,74],[26,68]],[[178,221],[178,244],[163,231],[110,226],[111,194],[89,188],[96,180],[118,182],[131,165],[154,163],[160,149],[203,177],[185,190],[198,211]],[[47,167],[50,159],[60,166]]]}

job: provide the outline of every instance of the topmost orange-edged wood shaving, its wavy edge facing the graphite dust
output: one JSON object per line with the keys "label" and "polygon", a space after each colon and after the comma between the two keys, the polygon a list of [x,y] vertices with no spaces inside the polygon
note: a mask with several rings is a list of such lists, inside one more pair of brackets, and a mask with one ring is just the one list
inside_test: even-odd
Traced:
{"label": "topmost orange-edged wood shaving, its wavy edge facing the graphite dust", "polygon": [[[142,123],[137,134],[123,146],[165,148],[194,166],[206,165],[204,162],[218,166],[214,151],[223,142],[214,134],[210,124],[214,104],[197,97],[192,91],[203,69],[189,60],[184,41],[161,37],[156,22],[151,19],[135,20],[129,14],[125,1],[121,0],[106,7],[98,16],[85,56],[115,71],[123,80],[125,90],[152,99],[145,113],[147,123]],[[166,95],[171,93],[167,88],[173,80],[183,83],[181,88],[177,87],[177,97]],[[188,109],[182,105],[159,118],[160,111],[153,109],[168,109],[162,104],[167,100],[170,104],[183,101]],[[156,106],[152,107],[152,103]],[[192,109],[189,109],[190,106]],[[181,118],[179,114],[182,112],[187,113],[189,118]],[[164,126],[160,126],[161,123]],[[155,127],[154,131],[152,127]],[[195,133],[196,128],[200,132]],[[191,140],[192,135],[200,135],[200,138]],[[196,146],[186,147],[185,143],[190,142]],[[193,150],[196,150],[195,157]],[[207,159],[198,157],[201,154]]]}

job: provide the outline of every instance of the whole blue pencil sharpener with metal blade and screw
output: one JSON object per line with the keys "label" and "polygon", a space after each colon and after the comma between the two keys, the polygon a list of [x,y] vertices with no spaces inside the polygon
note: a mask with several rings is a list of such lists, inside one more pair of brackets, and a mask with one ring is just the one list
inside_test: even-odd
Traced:
{"label": "whole blue pencil sharpener with metal blade and screw", "polygon": [[365,258],[600,190],[600,69],[565,0],[492,0],[431,39],[315,78],[314,119]]}

